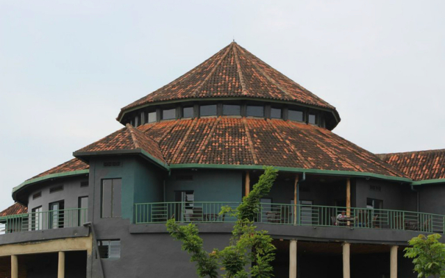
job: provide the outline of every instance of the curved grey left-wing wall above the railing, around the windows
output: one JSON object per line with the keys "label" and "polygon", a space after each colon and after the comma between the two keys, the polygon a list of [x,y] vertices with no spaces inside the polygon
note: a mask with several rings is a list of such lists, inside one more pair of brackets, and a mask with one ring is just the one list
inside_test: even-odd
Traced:
{"label": "curved grey left-wing wall above the railing, around the windows", "polygon": [[[88,196],[88,187],[81,187],[81,181],[88,181],[88,177],[71,177],[40,183],[38,186],[35,186],[29,195],[29,212],[38,206],[42,206],[43,211],[49,211],[49,204],[58,201],[65,201],[65,209],[78,208],[79,197]],[[63,185],[62,191],[49,193],[49,188],[59,185]],[[40,191],[42,191],[42,197],[33,199],[33,195]]]}

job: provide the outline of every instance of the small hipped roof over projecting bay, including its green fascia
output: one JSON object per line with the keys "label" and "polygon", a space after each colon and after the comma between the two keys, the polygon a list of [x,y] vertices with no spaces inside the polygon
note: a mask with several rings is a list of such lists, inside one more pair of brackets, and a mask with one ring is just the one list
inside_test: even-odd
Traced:
{"label": "small hipped roof over projecting bay, including its green fascia", "polygon": [[168,168],[158,142],[131,124],[127,124],[123,129],[74,152],[76,158],[86,161],[89,156],[110,154],[141,154],[157,165]]}

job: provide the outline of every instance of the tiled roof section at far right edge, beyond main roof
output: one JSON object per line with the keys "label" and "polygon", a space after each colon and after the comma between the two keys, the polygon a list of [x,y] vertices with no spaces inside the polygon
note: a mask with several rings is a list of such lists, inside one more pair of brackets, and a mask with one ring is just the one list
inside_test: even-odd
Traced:
{"label": "tiled roof section at far right edge, beyond main roof", "polygon": [[445,149],[379,154],[378,156],[416,181],[445,179]]}

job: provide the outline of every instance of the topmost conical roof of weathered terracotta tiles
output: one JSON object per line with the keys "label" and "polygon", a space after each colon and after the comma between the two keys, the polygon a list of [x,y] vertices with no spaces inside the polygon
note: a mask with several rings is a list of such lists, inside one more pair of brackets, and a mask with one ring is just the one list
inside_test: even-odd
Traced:
{"label": "topmost conical roof of weathered terracotta tiles", "polygon": [[156,101],[204,97],[254,97],[335,109],[323,99],[232,42],[190,72],[121,109]]}

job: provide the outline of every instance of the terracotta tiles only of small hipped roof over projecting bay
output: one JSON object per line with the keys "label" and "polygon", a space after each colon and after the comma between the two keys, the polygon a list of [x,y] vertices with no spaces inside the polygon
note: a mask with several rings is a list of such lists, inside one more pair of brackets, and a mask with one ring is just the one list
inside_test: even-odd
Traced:
{"label": "terracotta tiles only of small hipped roof over projecting bay", "polygon": [[97,142],[79,149],[77,152],[103,152],[124,149],[143,149],[154,158],[165,163],[158,142],[149,138],[142,131],[139,131],[130,124],[127,124],[123,129],[115,131]]}

